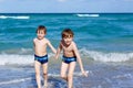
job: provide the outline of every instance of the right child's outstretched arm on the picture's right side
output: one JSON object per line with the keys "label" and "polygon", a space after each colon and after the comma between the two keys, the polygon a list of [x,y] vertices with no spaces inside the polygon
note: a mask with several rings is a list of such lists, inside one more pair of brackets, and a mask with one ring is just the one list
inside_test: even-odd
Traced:
{"label": "right child's outstretched arm on the picture's right side", "polygon": [[76,47],[75,43],[73,43],[73,50],[74,50],[74,54],[78,58],[78,62],[79,62],[82,74],[88,77],[88,74],[84,72],[83,64],[82,64],[82,61],[81,61],[81,57],[80,57],[80,54],[79,54],[79,51],[78,51],[78,47]]}

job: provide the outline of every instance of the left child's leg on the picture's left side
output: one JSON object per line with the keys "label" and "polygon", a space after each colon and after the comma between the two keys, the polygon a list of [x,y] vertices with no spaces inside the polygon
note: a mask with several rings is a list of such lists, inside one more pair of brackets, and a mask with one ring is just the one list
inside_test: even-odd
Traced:
{"label": "left child's leg on the picture's left side", "polygon": [[34,61],[35,80],[37,80],[38,88],[41,88],[40,66],[41,66],[41,64],[39,62]]}

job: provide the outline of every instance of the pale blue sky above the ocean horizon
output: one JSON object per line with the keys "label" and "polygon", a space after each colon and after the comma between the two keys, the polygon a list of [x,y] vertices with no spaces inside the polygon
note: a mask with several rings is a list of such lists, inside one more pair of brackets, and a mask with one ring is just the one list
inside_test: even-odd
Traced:
{"label": "pale blue sky above the ocean horizon", "polygon": [[133,12],[133,0],[0,0],[4,12]]}

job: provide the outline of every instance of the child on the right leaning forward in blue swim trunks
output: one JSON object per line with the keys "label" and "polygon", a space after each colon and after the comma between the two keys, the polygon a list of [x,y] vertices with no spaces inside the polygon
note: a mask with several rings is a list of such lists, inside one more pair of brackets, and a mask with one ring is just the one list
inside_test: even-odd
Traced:
{"label": "child on the right leaning forward in blue swim trunks", "polygon": [[[58,47],[55,58],[59,57],[61,51],[63,51],[61,77],[68,81],[68,88],[72,88],[73,72],[75,68],[75,62],[78,59],[82,74],[88,77],[88,74],[83,69],[82,61],[78,52],[76,45],[73,42],[73,32],[70,29],[64,29],[62,32],[62,40]],[[68,70],[68,75],[66,75]]]}

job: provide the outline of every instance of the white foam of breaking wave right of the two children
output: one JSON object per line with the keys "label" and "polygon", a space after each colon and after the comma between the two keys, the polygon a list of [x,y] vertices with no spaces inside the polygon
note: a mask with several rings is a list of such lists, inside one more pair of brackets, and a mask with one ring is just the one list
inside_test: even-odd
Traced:
{"label": "white foam of breaking wave right of the two children", "polygon": [[127,62],[133,58],[133,53],[103,53],[96,51],[81,50],[85,56],[100,62]]}

